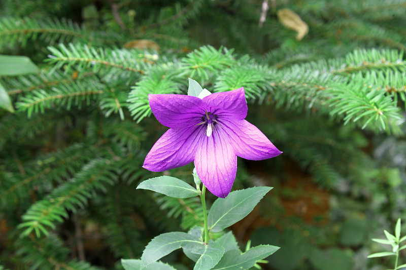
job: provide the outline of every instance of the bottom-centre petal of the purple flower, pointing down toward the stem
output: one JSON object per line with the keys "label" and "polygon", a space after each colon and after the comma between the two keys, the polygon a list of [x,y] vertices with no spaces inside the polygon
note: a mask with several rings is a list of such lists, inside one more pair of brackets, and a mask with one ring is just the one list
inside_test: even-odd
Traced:
{"label": "bottom-centre petal of the purple flower, pointing down toward the stem", "polygon": [[213,195],[225,198],[237,171],[237,156],[230,140],[221,129],[216,129],[198,143],[194,158],[197,175]]}

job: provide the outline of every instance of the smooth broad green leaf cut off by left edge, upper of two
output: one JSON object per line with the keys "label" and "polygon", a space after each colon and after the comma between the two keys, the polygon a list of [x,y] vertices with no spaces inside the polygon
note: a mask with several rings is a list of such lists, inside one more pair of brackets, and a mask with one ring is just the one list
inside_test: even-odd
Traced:
{"label": "smooth broad green leaf cut off by left edge, upper of two", "polygon": [[40,69],[26,56],[0,55],[0,63],[0,75],[4,76],[40,72]]}

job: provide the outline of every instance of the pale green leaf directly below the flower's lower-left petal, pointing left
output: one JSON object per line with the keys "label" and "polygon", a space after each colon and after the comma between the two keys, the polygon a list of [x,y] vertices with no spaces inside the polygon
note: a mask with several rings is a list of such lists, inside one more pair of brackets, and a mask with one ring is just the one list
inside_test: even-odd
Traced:
{"label": "pale green leaf directly below the flower's lower-left petal, pointing left", "polygon": [[191,198],[199,195],[196,188],[172,176],[159,176],[145,180],[137,186],[137,189],[139,188],[149,189],[174,198]]}

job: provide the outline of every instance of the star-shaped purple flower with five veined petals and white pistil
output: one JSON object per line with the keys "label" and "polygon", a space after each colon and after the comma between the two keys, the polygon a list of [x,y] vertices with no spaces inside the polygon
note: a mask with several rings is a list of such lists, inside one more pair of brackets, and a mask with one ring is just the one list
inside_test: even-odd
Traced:
{"label": "star-shaped purple flower with five veined petals and white pistil", "polygon": [[194,161],[197,175],[217,197],[231,190],[237,156],[264,160],[280,155],[272,142],[248,123],[244,88],[194,96],[150,94],[156,119],[170,129],[152,146],[143,167],[161,172]]}

